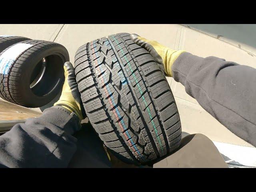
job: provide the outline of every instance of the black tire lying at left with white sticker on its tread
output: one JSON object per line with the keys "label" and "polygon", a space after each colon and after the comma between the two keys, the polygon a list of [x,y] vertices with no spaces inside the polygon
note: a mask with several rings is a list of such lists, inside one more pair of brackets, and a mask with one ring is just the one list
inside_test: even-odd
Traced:
{"label": "black tire lying at left with white sticker on its tread", "polygon": [[[7,74],[0,74],[0,97],[25,107],[44,106],[62,89],[63,65],[69,61],[68,51],[55,42],[27,40],[19,43],[32,46],[19,54]],[[0,53],[0,57],[6,50]],[[36,80],[33,78],[37,78],[37,82],[30,88],[32,81]]]}

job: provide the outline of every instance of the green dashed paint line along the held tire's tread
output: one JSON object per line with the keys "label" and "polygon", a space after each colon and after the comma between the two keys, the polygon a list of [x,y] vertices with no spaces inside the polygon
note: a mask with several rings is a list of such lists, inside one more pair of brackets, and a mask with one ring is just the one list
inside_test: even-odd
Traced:
{"label": "green dashed paint line along the held tire's tread", "polygon": [[151,116],[150,110],[148,109],[149,106],[148,106],[147,102],[145,101],[144,96],[142,95],[142,90],[141,90],[141,88],[140,88],[140,84],[138,83],[137,78],[136,78],[136,76],[135,76],[134,73],[133,73],[133,70],[132,70],[132,68],[131,68],[130,62],[129,62],[128,59],[126,58],[126,55],[124,54],[123,49],[122,49],[122,48],[120,47],[120,45],[118,44],[118,40],[117,40],[114,36],[112,36],[112,38],[116,41],[117,45],[119,46],[120,50],[122,51],[122,54],[124,55],[124,58],[126,59],[127,64],[128,64],[129,67],[130,67],[130,71],[132,72],[132,74],[133,74],[133,76],[134,76],[134,78],[135,78],[136,84],[137,84],[137,86],[138,86],[138,88],[139,88],[139,90],[140,90],[140,94],[141,94],[141,96],[142,96],[142,98],[143,98],[145,107],[146,107],[146,109],[148,110],[148,114],[149,114],[150,120],[151,120],[151,122],[152,122],[152,125],[153,125],[153,127],[154,127],[154,131],[155,131],[155,133],[156,133],[156,137],[158,138],[158,142],[159,142],[159,144],[160,144],[160,149],[161,149],[162,152],[163,152],[163,149],[162,149],[162,142],[160,141],[158,132],[157,132],[157,130],[156,130],[156,126],[155,126],[154,122],[152,121],[152,116]]}

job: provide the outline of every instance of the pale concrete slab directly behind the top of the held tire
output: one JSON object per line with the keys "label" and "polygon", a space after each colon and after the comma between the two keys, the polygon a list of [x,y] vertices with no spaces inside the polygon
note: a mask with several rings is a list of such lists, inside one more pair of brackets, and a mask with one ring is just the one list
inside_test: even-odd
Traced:
{"label": "pale concrete slab directly behind the top of the held tire", "polygon": [[55,42],[67,48],[70,62],[74,63],[78,47],[92,40],[121,32],[136,33],[174,48],[178,47],[181,26],[173,24],[65,24]]}

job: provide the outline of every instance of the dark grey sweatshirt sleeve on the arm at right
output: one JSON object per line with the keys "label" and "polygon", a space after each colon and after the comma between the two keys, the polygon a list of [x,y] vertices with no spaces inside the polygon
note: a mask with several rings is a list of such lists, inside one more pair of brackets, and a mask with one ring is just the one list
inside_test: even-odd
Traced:
{"label": "dark grey sweatshirt sleeve on the arm at right", "polygon": [[184,52],[172,65],[172,74],[214,118],[256,146],[256,69]]}

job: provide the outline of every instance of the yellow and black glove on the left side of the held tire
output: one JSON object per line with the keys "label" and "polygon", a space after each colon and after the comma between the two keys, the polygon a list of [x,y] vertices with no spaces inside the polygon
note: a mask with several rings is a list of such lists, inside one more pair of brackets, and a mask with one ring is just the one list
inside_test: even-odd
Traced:
{"label": "yellow and black glove on the left side of the held tire", "polygon": [[80,121],[86,117],[78,85],[76,83],[75,70],[70,62],[64,63],[65,81],[62,88],[60,99],[54,103],[54,106],[62,106],[74,112]]}

